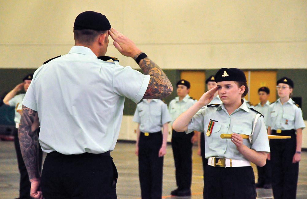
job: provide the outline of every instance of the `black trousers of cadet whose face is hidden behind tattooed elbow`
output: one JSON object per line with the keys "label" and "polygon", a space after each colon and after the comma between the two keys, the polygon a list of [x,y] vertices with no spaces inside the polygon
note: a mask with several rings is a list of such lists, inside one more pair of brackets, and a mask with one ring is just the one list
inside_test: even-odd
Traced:
{"label": "black trousers of cadet whose face is hidden behind tattooed elbow", "polygon": [[162,198],[163,157],[159,157],[162,132],[140,133],[138,143],[138,172],[142,199]]}

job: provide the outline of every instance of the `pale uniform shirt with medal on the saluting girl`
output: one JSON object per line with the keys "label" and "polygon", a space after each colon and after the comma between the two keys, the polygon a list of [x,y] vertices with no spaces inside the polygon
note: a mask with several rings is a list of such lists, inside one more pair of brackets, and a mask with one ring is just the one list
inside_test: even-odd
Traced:
{"label": "pale uniform shirt with medal on the saluting girl", "polygon": [[[210,120],[215,121],[212,134],[205,135],[205,156],[226,157],[236,160],[247,160],[236,149],[231,139],[222,139],[222,133],[239,133],[250,135],[252,133],[255,117],[258,113],[249,109],[245,102],[231,115],[228,114],[222,103],[218,107],[200,109],[188,124],[187,132],[207,132]],[[259,117],[252,135],[252,143],[243,139],[243,144],[255,151],[270,152],[269,139],[263,117]]]}

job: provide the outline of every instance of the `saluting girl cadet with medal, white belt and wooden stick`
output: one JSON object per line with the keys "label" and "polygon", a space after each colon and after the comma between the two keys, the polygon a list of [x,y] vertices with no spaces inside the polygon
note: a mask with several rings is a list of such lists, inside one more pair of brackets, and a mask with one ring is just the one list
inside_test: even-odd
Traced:
{"label": "saluting girl cadet with medal, white belt and wooden stick", "polygon": [[[251,162],[266,164],[270,152],[263,117],[241,100],[248,92],[242,70],[222,68],[216,75],[217,86],[182,113],[173,123],[176,131],[204,131],[206,167],[205,197],[208,199],[255,199],[255,176]],[[208,105],[218,91],[222,104]],[[208,105],[205,109],[203,106]],[[201,109],[201,110],[200,110]],[[199,111],[200,110],[200,111]],[[222,133],[232,133],[222,139]],[[251,141],[239,134],[252,135]]]}

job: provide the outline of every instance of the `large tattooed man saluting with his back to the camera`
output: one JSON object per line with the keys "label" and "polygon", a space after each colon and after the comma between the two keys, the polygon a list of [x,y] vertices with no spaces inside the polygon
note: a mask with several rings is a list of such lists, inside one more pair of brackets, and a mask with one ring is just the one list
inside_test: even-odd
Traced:
{"label": "large tattooed man saluting with his back to the camera", "polygon": [[[125,97],[165,98],[173,86],[165,73],[101,13],[80,13],[75,46],[34,73],[22,102],[18,129],[34,198],[115,199],[117,170],[110,156],[119,135]],[[106,57],[109,35],[119,52],[144,74]],[[107,62],[112,59],[114,63]],[[37,168],[35,134],[47,152]]]}

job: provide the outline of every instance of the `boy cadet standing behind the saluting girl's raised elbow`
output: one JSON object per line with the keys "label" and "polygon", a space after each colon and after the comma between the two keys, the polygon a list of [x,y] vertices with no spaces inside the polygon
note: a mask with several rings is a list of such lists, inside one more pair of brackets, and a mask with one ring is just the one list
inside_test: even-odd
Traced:
{"label": "boy cadet standing behind the saluting girl's raised elbow", "polygon": [[[169,113],[172,121],[188,108],[190,108],[196,100],[192,99],[188,93],[190,92],[190,82],[181,79],[176,84],[177,95],[169,103]],[[194,133],[186,134],[185,132],[177,132],[172,130],[172,149],[176,169],[177,189],[173,190],[173,196],[190,196],[192,183],[192,144],[197,141],[197,135]]]}

